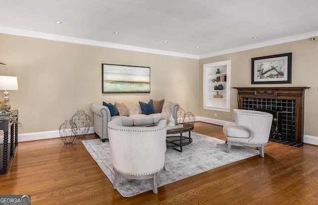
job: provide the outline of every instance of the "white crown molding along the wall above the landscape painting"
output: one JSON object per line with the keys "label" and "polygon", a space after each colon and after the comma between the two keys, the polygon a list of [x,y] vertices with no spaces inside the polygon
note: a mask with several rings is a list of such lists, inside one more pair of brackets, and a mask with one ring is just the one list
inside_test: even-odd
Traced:
{"label": "white crown molding along the wall above the landscape painting", "polygon": [[107,43],[107,42],[101,42],[101,41],[92,41],[92,40],[79,39],[79,38],[73,38],[73,37],[67,37],[67,36],[60,36],[60,35],[34,32],[34,31],[28,31],[28,30],[22,30],[22,29],[15,29],[15,28],[0,27],[0,33],[38,38],[38,39],[53,40],[53,41],[62,41],[67,43],[82,44],[82,45],[88,45],[88,46],[97,46],[97,47],[105,47],[105,48],[120,49],[120,50],[127,50],[127,51],[138,51],[138,52],[147,52],[147,53],[160,54],[160,55],[170,55],[170,56],[176,56],[176,57],[199,59],[199,55],[192,55],[192,54],[171,52],[171,51],[161,51],[156,49],[147,49],[142,47],[113,44],[113,43]]}

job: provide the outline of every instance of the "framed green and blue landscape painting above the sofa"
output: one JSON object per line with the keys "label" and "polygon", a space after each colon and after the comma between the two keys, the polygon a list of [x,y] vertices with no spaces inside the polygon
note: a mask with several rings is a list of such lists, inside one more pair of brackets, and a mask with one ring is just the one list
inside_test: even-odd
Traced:
{"label": "framed green and blue landscape painting above the sofa", "polygon": [[102,63],[102,93],[150,93],[150,67]]}

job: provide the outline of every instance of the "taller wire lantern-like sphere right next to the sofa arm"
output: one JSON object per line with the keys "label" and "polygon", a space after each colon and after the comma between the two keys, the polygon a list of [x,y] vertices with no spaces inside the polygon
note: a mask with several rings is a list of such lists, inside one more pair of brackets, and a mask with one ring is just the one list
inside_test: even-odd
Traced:
{"label": "taller wire lantern-like sphere right next to the sofa arm", "polygon": [[90,127],[90,116],[84,112],[84,110],[79,110],[71,118],[72,122],[76,125],[76,138],[84,139]]}

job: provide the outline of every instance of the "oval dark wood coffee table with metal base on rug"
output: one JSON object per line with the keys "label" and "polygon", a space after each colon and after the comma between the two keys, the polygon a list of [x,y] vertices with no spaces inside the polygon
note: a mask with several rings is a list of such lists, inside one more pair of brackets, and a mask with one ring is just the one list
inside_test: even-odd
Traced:
{"label": "oval dark wood coffee table with metal base on rug", "polygon": [[[182,146],[186,146],[192,143],[190,131],[193,130],[194,128],[192,124],[188,124],[188,123],[182,123],[182,124],[183,124],[183,128],[167,130],[167,135],[170,135],[170,134],[180,134],[180,135],[167,136],[165,141],[167,144],[167,148],[172,148],[176,151],[179,151],[180,153],[182,153]],[[189,132],[189,136],[188,137],[182,136],[182,133],[184,132]]]}

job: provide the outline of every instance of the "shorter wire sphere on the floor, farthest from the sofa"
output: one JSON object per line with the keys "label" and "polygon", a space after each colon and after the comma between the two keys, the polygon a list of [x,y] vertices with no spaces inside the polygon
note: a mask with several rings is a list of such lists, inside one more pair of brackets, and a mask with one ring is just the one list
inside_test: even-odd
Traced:
{"label": "shorter wire sphere on the floor, farthest from the sofa", "polygon": [[60,136],[64,145],[72,145],[76,135],[76,125],[71,120],[65,120],[59,129]]}

